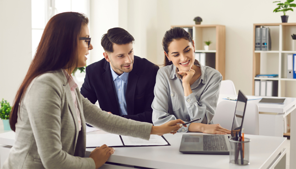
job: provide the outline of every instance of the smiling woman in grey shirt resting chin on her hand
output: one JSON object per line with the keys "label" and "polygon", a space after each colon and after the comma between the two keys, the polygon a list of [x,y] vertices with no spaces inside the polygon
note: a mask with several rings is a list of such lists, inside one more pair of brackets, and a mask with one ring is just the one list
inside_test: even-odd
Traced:
{"label": "smiling woman in grey shirt resting chin on her hand", "polygon": [[152,103],[152,121],[162,125],[170,120],[186,122],[200,118],[179,132],[230,134],[213,124],[222,75],[195,60],[194,41],[183,28],[168,30],[163,37],[164,67],[157,72]]}

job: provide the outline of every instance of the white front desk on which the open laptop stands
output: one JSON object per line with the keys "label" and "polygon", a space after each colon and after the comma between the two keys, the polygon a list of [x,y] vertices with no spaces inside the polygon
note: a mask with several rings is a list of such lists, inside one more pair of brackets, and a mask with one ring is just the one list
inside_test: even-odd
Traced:
{"label": "white front desk on which the open laptop stands", "polygon": [[[147,168],[285,168],[287,138],[245,135],[250,138],[250,165],[229,164],[229,155],[182,154],[183,133],[165,134],[171,146],[116,147],[107,162]],[[186,134],[186,133],[185,133]],[[192,134],[192,133],[190,133]],[[200,134],[200,133],[196,133]],[[89,152],[93,148],[86,149]],[[121,168],[105,165],[102,168]]]}

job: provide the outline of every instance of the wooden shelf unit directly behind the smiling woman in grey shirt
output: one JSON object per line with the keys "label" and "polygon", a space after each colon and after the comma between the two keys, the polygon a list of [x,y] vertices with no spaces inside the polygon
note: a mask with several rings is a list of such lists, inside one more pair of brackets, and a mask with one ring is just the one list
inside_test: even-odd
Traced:
{"label": "wooden shelf unit directly behind the smiling woman in grey shirt", "polygon": [[[215,53],[215,69],[225,80],[225,25],[172,25],[173,27],[192,28],[195,52]],[[203,50],[204,41],[212,41],[210,50]]]}

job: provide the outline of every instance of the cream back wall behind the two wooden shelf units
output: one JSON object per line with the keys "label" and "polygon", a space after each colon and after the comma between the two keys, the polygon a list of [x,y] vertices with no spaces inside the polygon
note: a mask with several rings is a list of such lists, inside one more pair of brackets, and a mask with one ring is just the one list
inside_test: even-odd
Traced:
{"label": "cream back wall behind the two wooden shelf units", "polygon": [[[156,16],[154,0],[135,1],[128,0],[128,7],[136,15],[128,16],[128,31],[137,43],[134,45],[135,55],[162,64],[164,54],[161,42],[165,31],[171,25],[193,25],[194,17],[200,16],[203,25],[226,26],[225,79],[232,80],[237,91],[241,89],[245,94],[252,95],[253,23],[281,22],[282,12],[273,13],[276,8],[273,0],[157,0]],[[288,11],[287,15],[288,22],[296,22],[295,12]],[[149,41],[145,37],[153,40]],[[146,48],[139,47],[138,43],[147,44]],[[156,54],[149,51],[155,51]]]}

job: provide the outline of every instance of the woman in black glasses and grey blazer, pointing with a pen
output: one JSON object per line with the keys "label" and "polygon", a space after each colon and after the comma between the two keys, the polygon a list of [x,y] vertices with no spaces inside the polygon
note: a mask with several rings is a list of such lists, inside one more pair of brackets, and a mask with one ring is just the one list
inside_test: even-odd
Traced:
{"label": "woman in black glasses and grey blazer, pointing with a pen", "polygon": [[108,114],[84,98],[71,73],[93,49],[88,18],[65,12],[47,23],[10,114],[15,144],[3,168],[99,168],[114,149],[103,145],[85,158],[86,122],[109,133],[149,140],[176,133],[182,120],[152,126]]}

